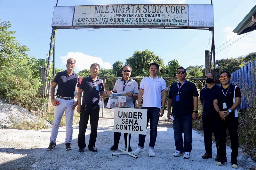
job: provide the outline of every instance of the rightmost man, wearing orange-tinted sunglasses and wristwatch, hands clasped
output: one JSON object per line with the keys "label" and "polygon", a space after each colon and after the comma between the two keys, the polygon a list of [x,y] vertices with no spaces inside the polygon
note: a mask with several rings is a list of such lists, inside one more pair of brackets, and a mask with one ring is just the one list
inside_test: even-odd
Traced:
{"label": "rightmost man, wearing orange-tinted sunglasses and wristwatch, hands clasped", "polygon": [[222,119],[219,124],[220,139],[219,139],[219,155],[220,161],[217,165],[227,164],[226,153],[226,137],[227,129],[231,140],[231,165],[233,168],[238,168],[238,111],[237,107],[241,103],[241,92],[238,86],[230,84],[231,74],[228,71],[220,73],[221,86],[214,92],[213,105]]}

